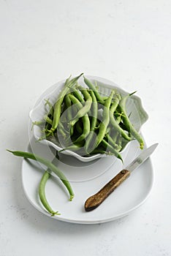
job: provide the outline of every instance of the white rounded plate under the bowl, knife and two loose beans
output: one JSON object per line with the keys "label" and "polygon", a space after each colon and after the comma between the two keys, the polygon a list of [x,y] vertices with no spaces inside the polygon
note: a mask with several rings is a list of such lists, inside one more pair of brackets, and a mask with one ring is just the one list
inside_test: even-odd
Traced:
{"label": "white rounded plate under the bowl, knife and two loose beans", "polygon": [[[50,149],[49,146],[34,143],[34,141],[31,141],[26,150],[50,160],[54,157],[53,148]],[[132,175],[94,211],[86,212],[84,203],[89,196],[99,191],[119,170],[129,164],[137,154],[140,154],[140,148],[136,141],[130,143],[124,165],[113,157],[104,157],[93,162],[80,162],[74,157],[60,154],[61,161],[57,162],[57,165],[71,182],[75,198],[70,202],[64,185],[58,178],[51,176],[47,181],[46,195],[53,210],[61,213],[55,217],[50,217],[39,202],[38,185],[43,166],[33,160],[23,159],[23,189],[30,203],[50,218],[81,224],[109,222],[129,214],[145,202],[153,186],[151,159],[146,160],[143,165],[134,170]]]}

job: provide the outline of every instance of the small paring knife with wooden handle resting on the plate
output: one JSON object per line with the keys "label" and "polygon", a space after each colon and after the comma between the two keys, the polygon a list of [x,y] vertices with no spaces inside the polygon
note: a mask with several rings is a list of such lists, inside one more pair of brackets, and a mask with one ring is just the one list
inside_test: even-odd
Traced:
{"label": "small paring knife with wooden handle resting on the plate", "polygon": [[88,197],[85,203],[85,210],[92,211],[97,208],[123,181],[126,180],[137,167],[142,165],[148,157],[153,153],[153,151],[158,146],[158,143],[153,144],[149,148],[140,153],[129,165],[127,165],[123,170],[120,171],[113,179],[111,179],[102,189],[99,190],[95,195]]}

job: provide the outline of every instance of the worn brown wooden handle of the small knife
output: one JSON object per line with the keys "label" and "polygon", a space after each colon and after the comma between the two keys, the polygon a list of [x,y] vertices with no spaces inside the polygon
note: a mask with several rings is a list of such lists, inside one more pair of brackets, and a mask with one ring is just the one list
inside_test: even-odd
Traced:
{"label": "worn brown wooden handle of the small knife", "polygon": [[88,197],[85,203],[85,210],[92,211],[97,208],[126,178],[130,175],[129,170],[121,170],[111,181],[109,181],[95,195]]}

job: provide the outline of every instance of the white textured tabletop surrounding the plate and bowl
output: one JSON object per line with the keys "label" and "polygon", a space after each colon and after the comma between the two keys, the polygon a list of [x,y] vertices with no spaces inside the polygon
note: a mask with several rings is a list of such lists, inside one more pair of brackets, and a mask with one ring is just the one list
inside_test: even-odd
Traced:
{"label": "white textured tabletop surrounding the plate and bowl", "polygon": [[[0,1],[0,256],[171,255],[170,1]],[[102,225],[54,222],[21,187],[28,113],[48,86],[85,72],[137,90],[156,182],[128,217]]]}

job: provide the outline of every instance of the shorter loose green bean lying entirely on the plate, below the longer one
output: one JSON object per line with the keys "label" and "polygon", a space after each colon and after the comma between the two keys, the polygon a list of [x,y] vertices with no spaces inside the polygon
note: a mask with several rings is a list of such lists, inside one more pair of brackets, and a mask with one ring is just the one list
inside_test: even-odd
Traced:
{"label": "shorter loose green bean lying entirely on the plate, below the longer one", "polygon": [[41,200],[42,205],[51,214],[51,217],[53,217],[54,215],[60,215],[60,214],[58,213],[58,211],[53,211],[53,209],[50,207],[49,203],[47,202],[47,198],[45,195],[45,185],[47,183],[48,178],[50,178],[50,173],[48,172],[48,169],[47,169],[43,173],[41,181],[39,182],[39,199]]}

